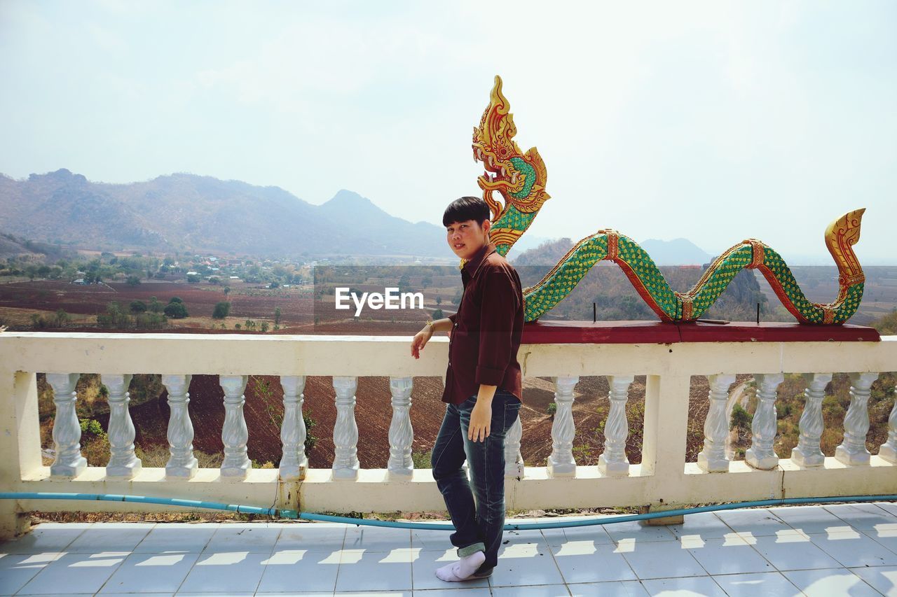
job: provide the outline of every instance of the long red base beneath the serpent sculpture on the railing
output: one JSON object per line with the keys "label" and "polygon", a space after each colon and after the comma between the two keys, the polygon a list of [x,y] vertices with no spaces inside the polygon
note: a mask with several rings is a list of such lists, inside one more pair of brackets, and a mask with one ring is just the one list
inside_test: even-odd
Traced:
{"label": "long red base beneath the serpent sculpture on the railing", "polygon": [[524,344],[667,344],[674,342],[878,342],[865,325],[746,321],[536,321],[523,326]]}

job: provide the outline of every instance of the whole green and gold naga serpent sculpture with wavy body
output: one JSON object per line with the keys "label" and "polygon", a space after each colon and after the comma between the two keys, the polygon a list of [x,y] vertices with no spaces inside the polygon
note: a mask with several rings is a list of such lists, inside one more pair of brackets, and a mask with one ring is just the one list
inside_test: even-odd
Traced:
{"label": "whole green and gold naga serpent sculpture with wavy body", "polygon": [[[501,77],[495,77],[489,106],[480,125],[474,128],[474,159],[485,168],[478,183],[483,200],[492,211],[490,238],[501,255],[529,228],[548,200],[548,174],[536,148],[526,153],[514,142],[517,127],[509,113],[508,99],[501,93]],[[494,198],[496,191],[504,199]],[[781,256],[760,240],[748,238],[719,255],[691,290],[670,288],[657,264],[638,243],[614,229],[598,230],[574,245],[567,255],[535,286],[523,291],[524,318],[536,321],[570,294],[570,290],[597,262],[618,264],[642,299],[661,321],[689,322],[701,316],[733,278],[745,268],[759,268],[782,304],[802,324],[843,324],[859,307],[866,279],[852,245],[859,240],[864,209],[848,212],[825,229],[825,245],[838,266],[838,298],[832,303],[814,303],[797,286]]]}

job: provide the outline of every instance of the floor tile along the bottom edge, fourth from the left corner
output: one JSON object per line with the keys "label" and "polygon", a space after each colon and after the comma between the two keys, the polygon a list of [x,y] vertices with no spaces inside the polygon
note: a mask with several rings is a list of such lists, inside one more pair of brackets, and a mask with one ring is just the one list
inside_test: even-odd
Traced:
{"label": "floor tile along the bottom edge, fourth from the left corner", "polygon": [[179,593],[226,591],[254,593],[269,554],[251,551],[204,551],[180,585]]}

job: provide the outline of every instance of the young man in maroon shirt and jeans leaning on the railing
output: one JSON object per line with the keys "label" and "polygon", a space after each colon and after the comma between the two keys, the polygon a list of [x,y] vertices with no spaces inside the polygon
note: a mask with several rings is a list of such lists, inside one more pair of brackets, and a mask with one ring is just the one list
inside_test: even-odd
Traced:
{"label": "young man in maroon shirt and jeans leaning on the railing", "polygon": [[[489,242],[489,206],[461,197],[442,216],[448,247],[465,260],[464,294],[457,314],[429,322],[411,342],[420,350],[434,332],[450,331],[442,402],[448,402],[433,446],[433,478],[455,532],[460,558],[436,571],[448,582],[492,575],[504,528],[504,437],[522,400],[517,351],[523,332],[518,273]],[[467,460],[471,484],[461,465]],[[476,504],[474,504],[474,497]]]}

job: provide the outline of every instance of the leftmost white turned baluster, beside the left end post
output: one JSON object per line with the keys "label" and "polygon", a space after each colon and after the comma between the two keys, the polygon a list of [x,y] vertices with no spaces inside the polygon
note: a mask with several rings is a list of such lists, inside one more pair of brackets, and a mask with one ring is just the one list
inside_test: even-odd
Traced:
{"label": "leftmost white turned baluster, beside the left end post", "polygon": [[53,448],[56,458],[50,465],[52,477],[76,477],[87,468],[81,455],[81,423],[74,411],[77,400],[74,386],[79,373],[48,373],[47,383],[53,388],[56,418],[53,420]]}

